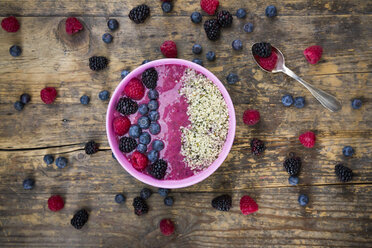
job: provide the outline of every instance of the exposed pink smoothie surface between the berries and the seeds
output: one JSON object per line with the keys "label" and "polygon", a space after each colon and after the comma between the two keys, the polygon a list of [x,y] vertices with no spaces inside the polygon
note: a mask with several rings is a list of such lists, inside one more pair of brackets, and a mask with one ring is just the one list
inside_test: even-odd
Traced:
{"label": "exposed pink smoothie surface between the berries and the seeds", "polygon": [[[188,126],[190,124],[186,114],[188,104],[183,96],[178,93],[181,88],[180,81],[186,67],[181,65],[161,65],[155,67],[159,78],[156,90],[159,92],[159,114],[160,119],[158,123],[161,131],[157,135],[150,134],[149,130],[142,130],[151,135],[151,143],[147,146],[147,151],[152,149],[152,142],[160,139],[164,142],[165,147],[159,153],[159,158],[168,162],[167,174],[164,179],[166,180],[180,180],[195,174],[183,162],[184,156],[181,155],[181,126]],[[141,75],[137,75],[141,79]],[[147,97],[148,90],[146,89],[143,99],[137,101],[138,105],[148,103]],[[122,95],[124,95],[122,93]],[[119,116],[120,113],[115,111],[114,116]],[[140,113],[135,113],[128,116],[132,124],[137,123],[138,118],[141,117]],[[128,134],[126,134],[128,135]],[[117,137],[119,140],[120,137]],[[130,161],[131,154],[125,154]],[[146,170],[143,173],[148,174]]]}

